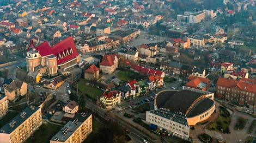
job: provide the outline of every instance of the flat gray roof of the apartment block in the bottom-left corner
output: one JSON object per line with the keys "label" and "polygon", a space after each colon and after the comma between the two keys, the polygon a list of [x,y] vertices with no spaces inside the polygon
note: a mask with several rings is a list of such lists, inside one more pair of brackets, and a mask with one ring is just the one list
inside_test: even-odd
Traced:
{"label": "flat gray roof of the apartment block in the bottom-left corner", "polygon": [[[0,130],[4,130],[5,134],[10,134],[11,132],[13,132],[17,127],[19,127],[21,124],[23,124],[24,121],[26,121],[32,114],[34,114],[35,112],[38,112],[40,109],[40,107],[34,107],[34,110],[32,110],[30,107],[25,108],[21,113],[19,113],[17,116],[15,116],[15,118],[13,118],[11,121],[16,121],[16,123],[14,124],[14,127],[10,127],[10,122],[8,122],[7,124],[5,124]],[[27,114],[25,115],[25,118],[21,118],[21,114],[23,112],[26,112]]]}

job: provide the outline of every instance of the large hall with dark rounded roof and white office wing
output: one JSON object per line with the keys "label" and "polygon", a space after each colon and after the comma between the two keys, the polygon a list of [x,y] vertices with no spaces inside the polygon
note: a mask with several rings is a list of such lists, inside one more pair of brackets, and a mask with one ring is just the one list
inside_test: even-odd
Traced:
{"label": "large hall with dark rounded roof and white office wing", "polygon": [[180,92],[164,90],[155,97],[155,109],[146,112],[147,124],[188,140],[190,126],[208,119],[214,112],[213,99],[214,93],[188,87],[183,87]]}

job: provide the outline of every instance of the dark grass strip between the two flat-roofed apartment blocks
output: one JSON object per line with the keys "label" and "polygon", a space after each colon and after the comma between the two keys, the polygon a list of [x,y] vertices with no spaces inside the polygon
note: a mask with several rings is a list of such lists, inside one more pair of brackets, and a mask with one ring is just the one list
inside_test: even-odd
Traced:
{"label": "dark grass strip between the two flat-roofed apartment blocks", "polygon": [[33,136],[28,138],[26,143],[48,143],[50,139],[60,131],[63,126],[54,124],[42,124],[38,131],[35,131]]}

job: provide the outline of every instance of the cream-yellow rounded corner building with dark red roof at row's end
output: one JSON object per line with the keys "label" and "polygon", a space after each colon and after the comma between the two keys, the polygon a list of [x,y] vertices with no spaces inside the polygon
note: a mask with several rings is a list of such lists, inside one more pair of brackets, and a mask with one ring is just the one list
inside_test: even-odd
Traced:
{"label": "cream-yellow rounded corner building with dark red roof at row's end", "polygon": [[105,107],[112,107],[114,105],[118,105],[121,102],[121,92],[117,90],[113,90],[109,93],[103,93],[100,95],[100,102]]}

